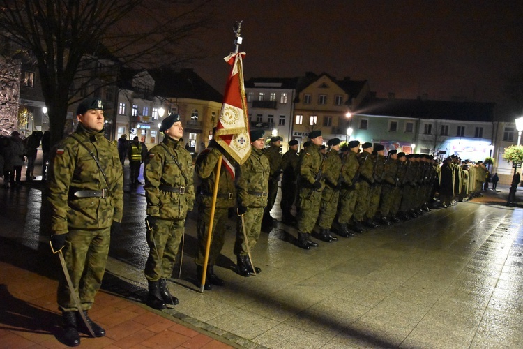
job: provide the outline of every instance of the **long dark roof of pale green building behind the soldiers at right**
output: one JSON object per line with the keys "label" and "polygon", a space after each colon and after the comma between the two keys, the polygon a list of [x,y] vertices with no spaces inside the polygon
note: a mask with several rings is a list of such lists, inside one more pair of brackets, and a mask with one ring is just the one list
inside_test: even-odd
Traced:
{"label": "long dark roof of pale green building behind the soldiers at right", "polygon": [[421,98],[370,98],[354,113],[416,119],[492,122],[494,106],[494,103],[432,101]]}

